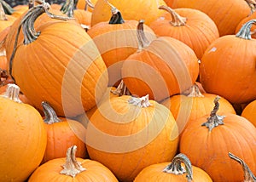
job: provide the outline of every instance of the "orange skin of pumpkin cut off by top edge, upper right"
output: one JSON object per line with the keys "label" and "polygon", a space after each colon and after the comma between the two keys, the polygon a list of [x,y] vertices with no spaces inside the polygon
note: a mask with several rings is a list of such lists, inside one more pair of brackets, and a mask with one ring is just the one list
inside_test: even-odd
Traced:
{"label": "orange skin of pumpkin cut off by top edge, upper right", "polygon": [[251,13],[247,2],[241,0],[174,0],[172,8],[201,10],[215,22],[221,37],[234,34],[237,24]]}

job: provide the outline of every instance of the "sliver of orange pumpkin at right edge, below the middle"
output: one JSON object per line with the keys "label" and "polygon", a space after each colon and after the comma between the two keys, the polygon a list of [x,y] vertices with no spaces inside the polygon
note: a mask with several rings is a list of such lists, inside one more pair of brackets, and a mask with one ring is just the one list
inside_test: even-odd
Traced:
{"label": "sliver of orange pumpkin at right edge, below the middle", "polygon": [[252,122],[254,127],[256,127],[256,100],[253,100],[243,108],[241,117],[247,118],[247,120]]}

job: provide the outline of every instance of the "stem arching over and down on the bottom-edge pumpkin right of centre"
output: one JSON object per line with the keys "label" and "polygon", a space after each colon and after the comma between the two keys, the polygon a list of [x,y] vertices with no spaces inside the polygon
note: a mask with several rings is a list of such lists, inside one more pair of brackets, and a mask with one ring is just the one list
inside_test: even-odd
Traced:
{"label": "stem arching over and down on the bottom-edge pumpkin right of centre", "polygon": [[[185,169],[182,167],[181,162],[185,164]],[[192,181],[193,179],[193,172],[192,172],[192,164],[189,161],[188,156],[180,153],[177,156],[174,156],[172,162],[164,168],[163,172],[165,173],[173,173],[173,174],[183,174],[187,173],[188,181]]]}

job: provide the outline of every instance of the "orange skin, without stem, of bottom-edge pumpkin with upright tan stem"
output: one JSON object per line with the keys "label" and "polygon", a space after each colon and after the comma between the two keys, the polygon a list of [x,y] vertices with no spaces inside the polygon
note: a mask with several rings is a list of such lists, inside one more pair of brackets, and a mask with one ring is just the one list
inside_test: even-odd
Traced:
{"label": "orange skin, without stem, of bottom-edge pumpkin with upright tan stem", "polygon": [[66,158],[57,158],[44,163],[32,173],[28,182],[41,182],[41,181],[86,181],[86,182],[118,182],[113,173],[103,166],[101,163],[92,161],[90,159],[77,158],[78,162],[86,168],[85,171],[77,174],[74,178],[61,174],[63,169],[61,166],[66,162]]}

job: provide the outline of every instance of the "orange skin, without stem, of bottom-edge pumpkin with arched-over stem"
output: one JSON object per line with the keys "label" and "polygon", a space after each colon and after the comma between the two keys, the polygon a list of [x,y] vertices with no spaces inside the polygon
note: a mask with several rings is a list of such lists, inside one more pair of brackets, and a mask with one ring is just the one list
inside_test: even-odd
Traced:
{"label": "orange skin, without stem, of bottom-edge pumpkin with arched-over stem", "polygon": [[[158,164],[153,164],[143,170],[137,175],[134,182],[167,182],[167,181],[177,181],[177,182],[187,182],[186,178],[187,173],[183,174],[174,174],[174,173],[164,173],[163,169],[168,166],[170,162],[162,162]],[[183,163],[181,164],[184,168]],[[200,182],[212,182],[210,176],[203,171],[201,168],[192,166],[193,180]]]}

